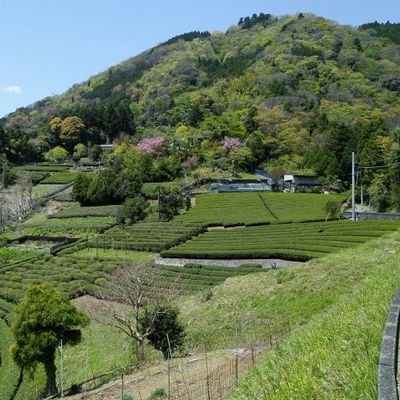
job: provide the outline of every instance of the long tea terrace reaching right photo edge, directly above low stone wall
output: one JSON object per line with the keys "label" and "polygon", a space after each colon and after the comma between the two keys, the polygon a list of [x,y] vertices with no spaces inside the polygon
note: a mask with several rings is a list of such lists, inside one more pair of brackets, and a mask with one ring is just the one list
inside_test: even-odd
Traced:
{"label": "long tea terrace reaching right photo edge, directly above low stone wall", "polygon": [[395,231],[395,221],[333,221],[214,230],[163,251],[163,257],[281,258],[305,261]]}

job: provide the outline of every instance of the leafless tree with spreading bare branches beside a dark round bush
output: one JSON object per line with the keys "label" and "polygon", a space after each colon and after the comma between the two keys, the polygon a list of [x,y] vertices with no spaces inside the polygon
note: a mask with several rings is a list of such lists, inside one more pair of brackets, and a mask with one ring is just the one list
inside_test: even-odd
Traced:
{"label": "leafless tree with spreading bare branches beside a dark round bush", "polygon": [[157,317],[178,295],[176,282],[165,281],[160,268],[129,263],[112,274],[102,293],[104,309],[90,314],[94,320],[114,326],[134,339],[143,361],[144,343],[153,332]]}

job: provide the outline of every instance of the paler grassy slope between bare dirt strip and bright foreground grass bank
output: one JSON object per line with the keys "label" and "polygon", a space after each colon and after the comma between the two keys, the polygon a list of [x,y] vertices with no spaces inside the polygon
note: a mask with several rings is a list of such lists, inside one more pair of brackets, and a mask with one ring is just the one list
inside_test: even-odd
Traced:
{"label": "paler grassy slope between bare dirt strip and bright foreground grass bank", "polygon": [[[328,310],[342,295],[351,296],[376,274],[382,280],[392,280],[392,287],[400,285],[400,254],[396,252],[399,239],[400,233],[395,232],[389,238],[375,239],[305,264],[231,278],[213,289],[207,301],[202,301],[201,295],[183,301],[188,346],[199,350],[206,337],[210,349],[234,348],[237,332],[239,345],[246,346],[254,340],[267,340],[271,334],[280,335],[288,323],[296,331]],[[394,289],[389,291],[384,301],[389,303],[393,293]],[[383,307],[383,313],[386,309]],[[281,358],[284,359],[283,354]]]}

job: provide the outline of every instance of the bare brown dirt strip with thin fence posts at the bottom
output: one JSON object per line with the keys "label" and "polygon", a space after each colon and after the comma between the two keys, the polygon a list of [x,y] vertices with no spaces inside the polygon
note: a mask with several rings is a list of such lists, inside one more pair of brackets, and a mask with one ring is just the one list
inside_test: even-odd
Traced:
{"label": "bare brown dirt strip with thin fence posts at the bottom", "polygon": [[[253,357],[252,357],[253,356]],[[171,361],[171,398],[179,400],[222,399],[233,385],[236,377],[246,372],[255,361],[255,353],[239,350],[222,350],[196,354]],[[168,389],[168,362],[117,378],[102,387],[68,397],[73,400],[120,400],[122,393],[135,400],[146,400],[157,388]],[[82,388],[85,389],[84,387]]]}

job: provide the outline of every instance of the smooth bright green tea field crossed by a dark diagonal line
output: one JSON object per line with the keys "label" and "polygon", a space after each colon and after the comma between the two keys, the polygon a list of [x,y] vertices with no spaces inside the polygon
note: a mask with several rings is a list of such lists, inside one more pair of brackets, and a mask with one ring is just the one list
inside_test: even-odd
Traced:
{"label": "smooth bright green tea field crossed by a dark diagonal line", "polygon": [[175,218],[205,225],[253,225],[324,220],[325,204],[339,195],[304,193],[219,193],[199,195],[196,206]]}

